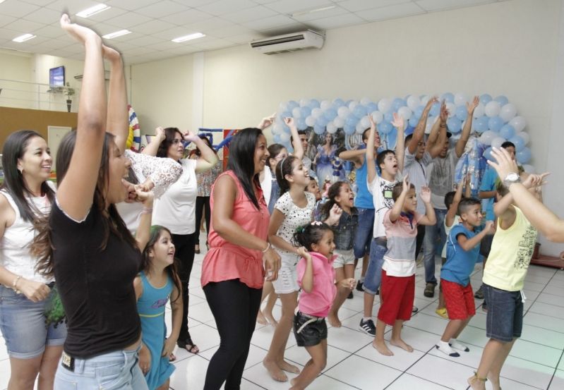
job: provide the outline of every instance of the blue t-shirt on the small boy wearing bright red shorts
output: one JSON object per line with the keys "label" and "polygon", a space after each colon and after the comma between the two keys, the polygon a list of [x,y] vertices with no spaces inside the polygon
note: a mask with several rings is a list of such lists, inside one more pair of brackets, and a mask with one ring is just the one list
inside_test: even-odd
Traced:
{"label": "blue t-shirt on the small boy wearing bright red shorts", "polygon": [[447,238],[447,262],[440,269],[440,279],[455,282],[462,286],[470,283],[470,274],[480,255],[480,245],[471,250],[464,250],[458,243],[457,236],[464,234],[469,240],[476,236],[476,231],[469,231],[462,224],[452,226]]}

